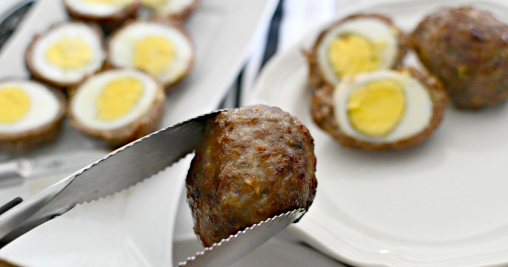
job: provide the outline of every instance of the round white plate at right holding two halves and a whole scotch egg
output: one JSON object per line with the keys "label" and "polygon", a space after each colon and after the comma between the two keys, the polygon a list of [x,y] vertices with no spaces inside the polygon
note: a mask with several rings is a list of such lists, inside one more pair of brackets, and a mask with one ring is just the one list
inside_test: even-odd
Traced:
{"label": "round white plate at right holding two halves and a whole scotch egg", "polygon": [[[501,1],[446,4],[471,4],[508,22]],[[410,31],[442,5],[392,0],[342,9],[338,17],[384,13]],[[317,32],[269,62],[248,103],[289,111],[315,139],[317,194],[292,229],[311,246],[355,265],[508,264],[508,105],[474,112],[449,108],[429,140],[414,149],[344,149],[309,113],[308,70],[300,49],[308,49]]]}

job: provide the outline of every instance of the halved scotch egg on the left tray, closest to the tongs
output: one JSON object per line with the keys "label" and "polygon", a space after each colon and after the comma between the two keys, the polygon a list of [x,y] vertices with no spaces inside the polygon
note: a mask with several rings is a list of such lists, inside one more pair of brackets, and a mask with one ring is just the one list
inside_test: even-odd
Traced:
{"label": "halved scotch egg on the left tray, closest to the tongs", "polygon": [[70,100],[71,126],[118,147],[158,129],[164,91],[150,75],[108,70],[83,81]]}

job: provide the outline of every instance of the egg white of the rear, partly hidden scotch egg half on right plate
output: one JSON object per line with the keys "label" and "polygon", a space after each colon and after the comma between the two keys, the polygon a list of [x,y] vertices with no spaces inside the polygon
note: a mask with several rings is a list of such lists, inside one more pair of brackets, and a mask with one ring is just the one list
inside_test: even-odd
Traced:
{"label": "egg white of the rear, partly hidden scotch egg half on right plate", "polygon": [[383,42],[385,46],[380,53],[379,69],[390,69],[395,64],[398,54],[398,39],[390,27],[380,19],[359,17],[344,21],[332,28],[317,46],[317,64],[323,72],[325,80],[331,84],[337,84],[342,79],[342,77],[337,77],[328,60],[328,47],[341,34],[357,34],[370,42]]}

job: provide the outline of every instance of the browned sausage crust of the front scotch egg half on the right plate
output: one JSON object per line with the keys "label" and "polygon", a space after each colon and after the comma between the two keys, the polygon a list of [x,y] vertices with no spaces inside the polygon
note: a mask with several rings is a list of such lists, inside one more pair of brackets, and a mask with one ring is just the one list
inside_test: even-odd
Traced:
{"label": "browned sausage crust of the front scotch egg half on the right plate", "polygon": [[441,83],[426,72],[418,71],[415,68],[406,68],[412,77],[417,78],[429,92],[432,99],[432,118],[420,133],[409,138],[405,138],[392,143],[371,143],[359,140],[343,133],[337,123],[334,113],[333,90],[332,86],[324,86],[316,91],[311,99],[310,112],[314,122],[321,129],[329,133],[338,140],[343,146],[356,147],[363,150],[402,150],[416,145],[430,136],[432,131],[442,120],[444,109],[448,101],[448,96]]}

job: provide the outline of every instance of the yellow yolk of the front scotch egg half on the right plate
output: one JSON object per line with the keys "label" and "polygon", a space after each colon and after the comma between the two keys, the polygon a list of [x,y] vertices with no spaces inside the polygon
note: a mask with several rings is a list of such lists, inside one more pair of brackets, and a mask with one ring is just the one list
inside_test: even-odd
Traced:
{"label": "yellow yolk of the front scotch egg half on the right plate", "polygon": [[405,111],[403,87],[392,80],[377,80],[355,88],[347,100],[351,125],[368,136],[390,133]]}

